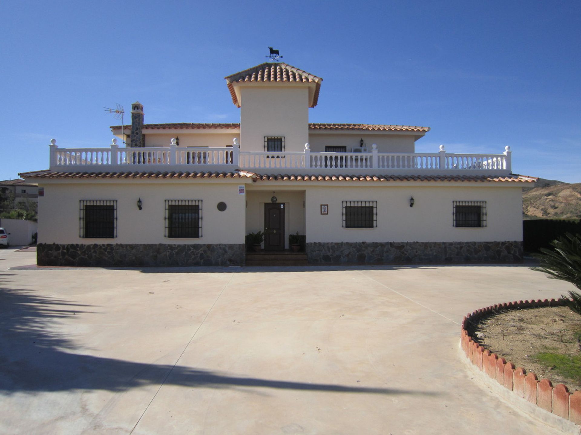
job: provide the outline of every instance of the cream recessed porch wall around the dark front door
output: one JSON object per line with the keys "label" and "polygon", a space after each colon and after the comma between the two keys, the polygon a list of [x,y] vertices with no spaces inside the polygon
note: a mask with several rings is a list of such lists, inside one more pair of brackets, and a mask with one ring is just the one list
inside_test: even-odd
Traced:
{"label": "cream recessed porch wall around the dark front door", "polygon": [[[285,204],[285,248],[289,234],[304,235],[304,190],[275,190],[278,204]],[[264,231],[264,203],[270,204],[272,190],[246,191],[246,234]]]}

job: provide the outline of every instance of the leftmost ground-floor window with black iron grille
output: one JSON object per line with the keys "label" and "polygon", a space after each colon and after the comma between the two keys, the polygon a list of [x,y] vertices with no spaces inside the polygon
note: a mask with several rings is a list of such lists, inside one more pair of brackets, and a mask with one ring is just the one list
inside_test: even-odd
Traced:
{"label": "leftmost ground-floor window with black iron grille", "polygon": [[79,201],[79,221],[82,238],[117,237],[117,201]]}

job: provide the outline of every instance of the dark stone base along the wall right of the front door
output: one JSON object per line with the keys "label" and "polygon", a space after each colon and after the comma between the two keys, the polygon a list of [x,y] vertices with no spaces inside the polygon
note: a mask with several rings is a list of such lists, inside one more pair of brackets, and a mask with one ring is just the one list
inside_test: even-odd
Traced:
{"label": "dark stone base along the wall right of the front door", "polygon": [[312,264],[520,262],[522,241],[504,242],[310,242]]}

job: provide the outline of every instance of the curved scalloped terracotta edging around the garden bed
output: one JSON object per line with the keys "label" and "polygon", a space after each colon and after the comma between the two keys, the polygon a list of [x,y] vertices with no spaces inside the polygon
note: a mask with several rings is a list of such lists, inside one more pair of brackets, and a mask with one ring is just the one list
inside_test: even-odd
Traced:
{"label": "curved scalloped terracotta edging around the garden bed", "polygon": [[[500,355],[491,353],[480,343],[476,343],[468,333],[468,327],[477,324],[482,317],[494,311],[565,306],[565,299],[519,300],[495,304],[467,314],[462,320],[460,347],[468,358],[467,362],[477,371],[496,381],[499,387],[512,391],[519,400],[527,401],[551,414],[581,426],[581,391],[569,393],[563,384],[553,386],[550,379],[538,379],[534,373],[527,373]],[[580,428],[581,432],[581,428]]]}

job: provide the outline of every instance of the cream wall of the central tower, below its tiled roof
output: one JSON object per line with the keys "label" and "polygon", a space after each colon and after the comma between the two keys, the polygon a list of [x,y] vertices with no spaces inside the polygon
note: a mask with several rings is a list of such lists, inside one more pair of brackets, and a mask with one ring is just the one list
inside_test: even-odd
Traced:
{"label": "cream wall of the central tower, below its tiled roof", "polygon": [[[309,142],[307,86],[241,86],[241,151],[264,151],[264,136],[283,136],[285,151]],[[180,142],[181,143],[181,142]]]}

